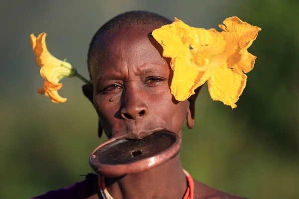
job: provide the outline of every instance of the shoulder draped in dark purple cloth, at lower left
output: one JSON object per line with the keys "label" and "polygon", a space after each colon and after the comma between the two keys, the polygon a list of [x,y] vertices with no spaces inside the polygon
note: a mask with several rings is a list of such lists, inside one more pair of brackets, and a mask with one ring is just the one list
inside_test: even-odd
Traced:
{"label": "shoulder draped in dark purple cloth, at lower left", "polygon": [[75,183],[67,188],[49,191],[32,199],[99,199],[97,190],[98,175],[87,174],[82,182]]}

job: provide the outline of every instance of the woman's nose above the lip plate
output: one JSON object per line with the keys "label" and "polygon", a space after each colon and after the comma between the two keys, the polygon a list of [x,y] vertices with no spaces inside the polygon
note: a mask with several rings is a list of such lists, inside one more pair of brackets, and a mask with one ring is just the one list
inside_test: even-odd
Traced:
{"label": "woman's nose above the lip plate", "polygon": [[[140,94],[126,92],[127,97],[123,99],[121,116],[123,119],[139,119],[149,114],[148,106]],[[131,94],[128,94],[131,93]]]}

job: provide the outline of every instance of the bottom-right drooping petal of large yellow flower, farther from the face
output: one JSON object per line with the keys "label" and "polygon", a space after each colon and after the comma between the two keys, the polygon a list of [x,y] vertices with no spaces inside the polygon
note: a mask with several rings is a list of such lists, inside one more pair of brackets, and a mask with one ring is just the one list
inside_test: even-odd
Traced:
{"label": "bottom-right drooping petal of large yellow flower, farther from the face", "polygon": [[226,65],[212,68],[212,74],[208,79],[208,90],[213,100],[222,101],[232,108],[241,96],[245,86],[247,76],[238,73],[234,69],[229,69]]}

